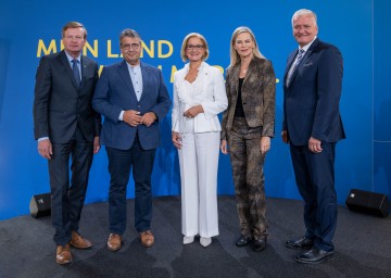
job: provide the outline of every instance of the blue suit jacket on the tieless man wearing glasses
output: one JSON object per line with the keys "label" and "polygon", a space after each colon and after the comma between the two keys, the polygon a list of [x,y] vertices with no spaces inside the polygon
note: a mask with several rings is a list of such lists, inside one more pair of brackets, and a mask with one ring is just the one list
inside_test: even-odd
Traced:
{"label": "blue suit jacket on the tieless man wearing glasses", "polygon": [[[162,72],[141,63],[142,94],[137,100],[126,61],[105,66],[98,81],[92,105],[104,116],[101,142],[110,148],[128,150],[133,146],[136,131],[142,149],[154,149],[160,144],[160,121],[167,114],[171,100]],[[121,111],[135,110],[140,115],[154,112],[157,116],[151,126],[133,127],[118,119]]]}

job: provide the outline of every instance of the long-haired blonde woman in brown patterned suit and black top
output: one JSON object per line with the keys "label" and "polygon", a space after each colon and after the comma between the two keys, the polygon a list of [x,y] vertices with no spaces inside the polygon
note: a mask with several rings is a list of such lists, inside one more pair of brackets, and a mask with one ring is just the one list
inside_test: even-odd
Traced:
{"label": "long-haired blonde woman in brown patterned suit and black top", "polygon": [[220,149],[230,153],[232,165],[241,228],[236,244],[252,242],[254,251],[263,251],[267,240],[263,165],[274,137],[276,78],[248,27],[232,34],[226,91]]}

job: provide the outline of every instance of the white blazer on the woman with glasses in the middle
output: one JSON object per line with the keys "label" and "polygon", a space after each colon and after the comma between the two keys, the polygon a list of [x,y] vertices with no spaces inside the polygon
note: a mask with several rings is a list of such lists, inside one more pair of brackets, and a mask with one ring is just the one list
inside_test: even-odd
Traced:
{"label": "white blazer on the woman with glasses in the middle", "polygon": [[[185,131],[184,113],[188,109],[201,104],[204,113],[198,114],[194,121],[194,132],[220,131],[218,113],[228,106],[227,93],[222,72],[202,62],[195,80],[190,86],[185,80],[189,72],[189,63],[174,74],[174,106],[172,112],[173,131]],[[187,83],[187,84],[186,84]]]}

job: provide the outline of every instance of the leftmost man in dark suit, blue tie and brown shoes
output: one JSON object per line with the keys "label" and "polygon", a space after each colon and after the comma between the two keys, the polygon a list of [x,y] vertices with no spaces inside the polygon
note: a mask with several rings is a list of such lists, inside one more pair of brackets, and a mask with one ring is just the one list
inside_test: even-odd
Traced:
{"label": "leftmost man in dark suit, blue tie and brown shoes", "polygon": [[[92,244],[78,233],[93,153],[100,149],[101,117],[91,101],[98,64],[81,55],[87,30],[77,22],[62,29],[64,50],[42,56],[36,75],[34,132],[48,160],[56,262],[72,262],[70,244]],[[70,156],[72,179],[70,185]]]}

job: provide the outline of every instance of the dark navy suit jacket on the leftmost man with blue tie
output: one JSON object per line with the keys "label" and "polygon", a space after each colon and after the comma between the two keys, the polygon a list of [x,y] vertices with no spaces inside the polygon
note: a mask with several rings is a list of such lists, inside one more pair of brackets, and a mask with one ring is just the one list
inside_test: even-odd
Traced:
{"label": "dark navy suit jacket on the leftmost man with blue tie", "polygon": [[33,108],[36,139],[49,137],[52,143],[66,143],[77,124],[89,142],[99,136],[101,117],[91,105],[98,64],[87,56],[80,61],[81,85],[77,88],[64,50],[41,58]]}

